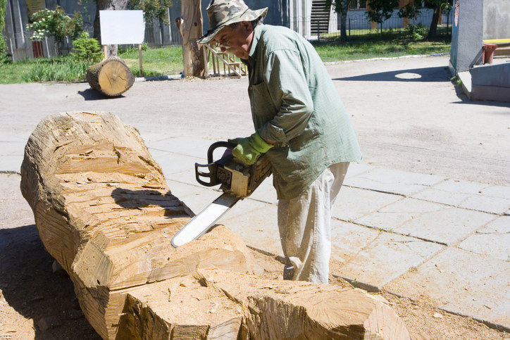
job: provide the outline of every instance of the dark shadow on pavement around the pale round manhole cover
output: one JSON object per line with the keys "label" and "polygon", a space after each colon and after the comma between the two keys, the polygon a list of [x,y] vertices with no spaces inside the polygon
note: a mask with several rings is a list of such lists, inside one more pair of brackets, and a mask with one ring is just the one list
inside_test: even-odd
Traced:
{"label": "dark shadow on pavement around the pale round manhole cover", "polygon": [[358,75],[356,77],[335,78],[333,80],[354,80],[356,82],[449,82],[447,67],[413,68],[410,70],[387,71]]}

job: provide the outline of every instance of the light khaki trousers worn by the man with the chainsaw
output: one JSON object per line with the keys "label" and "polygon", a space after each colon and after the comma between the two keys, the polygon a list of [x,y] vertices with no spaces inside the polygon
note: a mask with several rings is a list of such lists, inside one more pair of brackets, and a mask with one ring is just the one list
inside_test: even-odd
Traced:
{"label": "light khaki trousers worn by the man with the chainsaw", "polygon": [[328,283],[331,210],[348,167],[348,162],[330,165],[299,196],[278,201],[283,279]]}

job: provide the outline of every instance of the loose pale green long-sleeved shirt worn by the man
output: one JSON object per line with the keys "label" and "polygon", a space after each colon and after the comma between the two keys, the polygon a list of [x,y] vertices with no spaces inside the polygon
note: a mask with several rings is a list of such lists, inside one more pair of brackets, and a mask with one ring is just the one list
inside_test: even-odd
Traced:
{"label": "loose pale green long-sleeved shirt worn by the man", "polygon": [[328,166],[361,160],[342,100],[313,46],[287,27],[256,25],[248,94],[278,199],[292,199]]}

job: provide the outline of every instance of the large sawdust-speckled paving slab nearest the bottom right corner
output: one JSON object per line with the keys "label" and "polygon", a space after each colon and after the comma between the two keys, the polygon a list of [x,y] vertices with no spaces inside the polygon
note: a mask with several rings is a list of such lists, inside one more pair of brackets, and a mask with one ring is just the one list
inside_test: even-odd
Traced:
{"label": "large sawdust-speckled paving slab nearest the bottom right corner", "polygon": [[510,329],[510,262],[449,247],[385,289]]}

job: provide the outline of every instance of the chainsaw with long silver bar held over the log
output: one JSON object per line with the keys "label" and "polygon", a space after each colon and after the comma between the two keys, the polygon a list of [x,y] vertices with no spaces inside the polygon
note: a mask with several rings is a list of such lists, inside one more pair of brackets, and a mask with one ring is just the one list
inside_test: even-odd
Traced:
{"label": "chainsaw with long silver bar held over the log", "polygon": [[[217,141],[209,146],[207,164],[195,163],[197,182],[206,187],[220,185],[223,194],[206,206],[204,210],[201,210],[174,235],[170,243],[175,248],[201,237],[237,201],[251,195],[271,174],[271,163],[265,154],[262,154],[253,165],[245,166],[232,156],[232,149],[235,146],[236,144],[228,141]],[[213,160],[213,153],[218,148],[225,148],[225,152],[220,159]]]}

